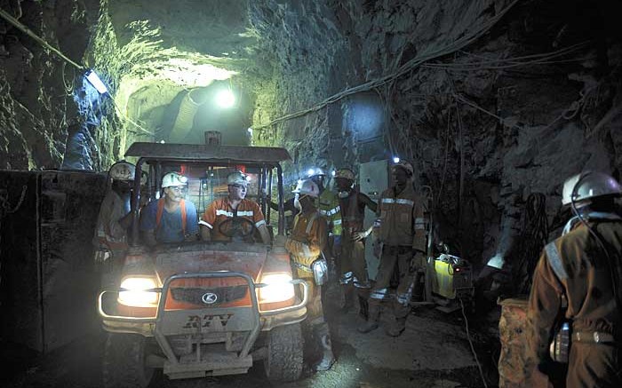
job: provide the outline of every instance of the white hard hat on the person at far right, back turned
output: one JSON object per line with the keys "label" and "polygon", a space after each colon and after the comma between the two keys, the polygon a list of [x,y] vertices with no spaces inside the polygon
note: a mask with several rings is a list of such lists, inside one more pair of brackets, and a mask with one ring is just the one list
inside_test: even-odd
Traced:
{"label": "white hard hat on the person at far right, back turned", "polygon": [[[622,186],[610,175],[598,171],[581,172],[566,179],[562,189],[562,204],[583,202],[601,196],[619,196]],[[580,205],[584,205],[581,203]]]}

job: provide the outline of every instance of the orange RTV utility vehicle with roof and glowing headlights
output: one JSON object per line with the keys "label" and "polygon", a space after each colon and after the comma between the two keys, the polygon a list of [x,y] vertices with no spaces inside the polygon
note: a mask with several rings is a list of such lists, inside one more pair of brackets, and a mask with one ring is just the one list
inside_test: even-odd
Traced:
{"label": "orange RTV utility vehicle with roof and glowing headlights", "polygon": [[[138,158],[130,247],[116,287],[98,301],[108,332],[105,386],[145,387],[157,368],[171,379],[243,374],[256,360],[270,381],[298,379],[308,283],[292,277],[284,249],[280,163],[290,159],[287,151],[134,143],[126,156]],[[148,182],[140,190],[142,171]],[[252,204],[212,205],[233,198],[232,185],[243,186]],[[169,207],[167,195],[179,197],[178,204]],[[267,208],[271,199],[276,219]],[[171,217],[175,212],[180,217]],[[224,219],[216,223],[209,215]],[[163,222],[177,227],[179,238],[158,241]],[[208,226],[212,238],[201,239],[199,226]]]}

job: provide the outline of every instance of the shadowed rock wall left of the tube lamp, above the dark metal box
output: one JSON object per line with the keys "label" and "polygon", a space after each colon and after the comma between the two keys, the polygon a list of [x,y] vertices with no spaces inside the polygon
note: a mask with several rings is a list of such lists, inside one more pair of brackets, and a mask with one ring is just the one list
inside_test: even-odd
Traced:
{"label": "shadowed rock wall left of the tube lamp, above the dark metal box", "polygon": [[[2,0],[0,7],[78,63],[99,10],[91,0]],[[0,168],[60,167],[69,128],[77,124],[76,72],[0,19]]]}

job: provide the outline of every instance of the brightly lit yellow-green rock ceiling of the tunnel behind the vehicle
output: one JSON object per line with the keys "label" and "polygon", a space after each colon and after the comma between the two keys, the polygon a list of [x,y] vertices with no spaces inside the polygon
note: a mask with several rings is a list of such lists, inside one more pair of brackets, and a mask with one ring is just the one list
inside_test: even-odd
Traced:
{"label": "brightly lit yellow-green rock ceiling of the tunnel behind the vehicle", "polygon": [[[196,123],[197,115],[186,119],[181,135],[172,136],[179,132],[176,120],[183,119],[179,116],[187,104],[195,114],[196,109],[211,107],[207,97],[197,100],[205,93],[195,91],[189,99],[183,95],[224,80],[228,86],[221,82],[219,87],[242,91],[252,47],[257,44],[249,29],[246,2],[185,0],[161,6],[148,1],[111,1],[102,4],[102,10],[106,11],[101,12],[95,44],[87,55],[116,83],[116,105],[132,121],[156,133],[156,140],[200,140],[202,133],[181,136],[210,129],[209,124]],[[203,107],[195,107],[201,103]],[[243,110],[235,132],[241,135],[250,125],[250,110],[247,105],[237,108]]]}

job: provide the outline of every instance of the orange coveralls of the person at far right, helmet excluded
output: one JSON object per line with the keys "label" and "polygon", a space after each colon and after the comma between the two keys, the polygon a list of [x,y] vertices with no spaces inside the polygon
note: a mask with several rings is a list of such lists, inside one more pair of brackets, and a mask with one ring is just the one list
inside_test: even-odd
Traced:
{"label": "orange coveralls of the person at far right, helmet excluded", "polygon": [[[578,223],[568,234],[547,244],[540,255],[527,309],[527,356],[530,363],[546,372],[555,323],[560,314],[564,314],[572,321],[573,339],[577,339],[576,333],[581,337],[570,346],[566,386],[622,386],[619,373],[622,370],[619,357],[622,314],[611,278],[612,273],[622,270],[622,221],[586,218],[592,231]],[[602,239],[604,247],[609,247],[611,260],[593,233]],[[584,337],[594,339],[594,335],[599,340],[600,337],[608,339],[609,336],[603,334],[613,336],[616,344],[583,341]]]}

